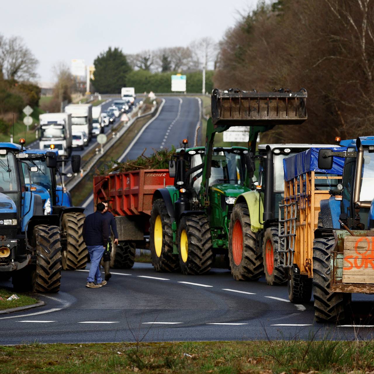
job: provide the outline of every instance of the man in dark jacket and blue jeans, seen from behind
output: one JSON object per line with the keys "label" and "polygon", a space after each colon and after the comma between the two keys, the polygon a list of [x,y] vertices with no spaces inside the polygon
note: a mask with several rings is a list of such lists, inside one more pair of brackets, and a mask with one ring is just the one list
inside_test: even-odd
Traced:
{"label": "man in dark jacket and blue jeans, seen from behind", "polygon": [[98,203],[96,212],[89,214],[83,224],[83,240],[91,258],[91,268],[86,284],[88,288],[99,288],[107,284],[102,280],[100,273],[100,260],[109,240],[108,224],[103,216],[104,209],[104,204]]}

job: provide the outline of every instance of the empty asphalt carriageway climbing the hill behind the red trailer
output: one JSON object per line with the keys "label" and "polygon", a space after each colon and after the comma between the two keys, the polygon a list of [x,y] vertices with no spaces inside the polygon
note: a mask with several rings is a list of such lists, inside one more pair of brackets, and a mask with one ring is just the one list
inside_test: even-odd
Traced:
{"label": "empty asphalt carriageway climbing the hill behind the red trailer", "polygon": [[[196,125],[200,120],[199,101],[192,97],[165,97],[165,103],[157,116],[141,134],[123,160],[136,159],[145,148],[146,156],[153,153],[153,149],[179,147],[184,138],[189,144],[194,144]],[[88,196],[83,203],[85,214],[93,213],[92,196]]]}

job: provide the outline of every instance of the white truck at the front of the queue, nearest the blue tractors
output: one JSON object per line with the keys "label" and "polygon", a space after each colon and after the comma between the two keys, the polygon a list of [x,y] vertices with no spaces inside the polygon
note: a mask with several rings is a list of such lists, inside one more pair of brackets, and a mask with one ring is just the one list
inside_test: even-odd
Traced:
{"label": "white truck at the front of the queue, nearest the blue tractors", "polygon": [[58,150],[60,157],[69,157],[72,147],[71,114],[44,113],[39,115],[39,148]]}

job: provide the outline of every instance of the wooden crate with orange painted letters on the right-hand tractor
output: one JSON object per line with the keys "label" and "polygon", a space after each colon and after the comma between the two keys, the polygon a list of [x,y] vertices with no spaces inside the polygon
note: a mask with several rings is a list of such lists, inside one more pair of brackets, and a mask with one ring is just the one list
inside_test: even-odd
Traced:
{"label": "wooden crate with orange painted letters on the right-hand tractor", "polygon": [[344,238],[343,283],[374,283],[374,237]]}

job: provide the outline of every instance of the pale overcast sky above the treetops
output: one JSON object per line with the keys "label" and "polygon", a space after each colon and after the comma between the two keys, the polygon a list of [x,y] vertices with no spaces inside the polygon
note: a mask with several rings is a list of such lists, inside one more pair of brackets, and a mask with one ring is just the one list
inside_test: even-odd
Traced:
{"label": "pale overcast sky above the treetops", "polygon": [[53,80],[58,61],[95,57],[109,46],[124,53],[217,42],[257,0],[13,0],[1,1],[0,33],[21,36],[40,61],[39,80]]}

